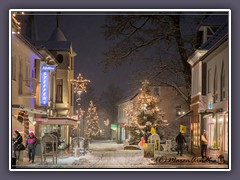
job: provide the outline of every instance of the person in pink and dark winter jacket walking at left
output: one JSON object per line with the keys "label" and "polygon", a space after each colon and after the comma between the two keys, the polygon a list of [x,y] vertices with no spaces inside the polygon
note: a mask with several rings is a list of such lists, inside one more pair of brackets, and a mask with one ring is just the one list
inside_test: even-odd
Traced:
{"label": "person in pink and dark winter jacket walking at left", "polygon": [[32,161],[32,163],[34,163],[36,146],[37,146],[37,138],[35,137],[33,132],[30,132],[29,137],[26,141],[26,148],[28,150],[29,162]]}

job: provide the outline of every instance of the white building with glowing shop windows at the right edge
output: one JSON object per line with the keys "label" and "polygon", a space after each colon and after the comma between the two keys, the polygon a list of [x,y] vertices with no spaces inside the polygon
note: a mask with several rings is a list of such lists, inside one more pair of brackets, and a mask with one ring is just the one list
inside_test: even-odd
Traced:
{"label": "white building with glowing shop windows at the right edge", "polygon": [[222,21],[222,25],[214,28],[213,31],[209,24],[200,27],[206,30],[204,43],[188,59],[192,67],[192,151],[200,154],[200,135],[205,129],[209,148],[219,149],[228,159],[228,23]]}

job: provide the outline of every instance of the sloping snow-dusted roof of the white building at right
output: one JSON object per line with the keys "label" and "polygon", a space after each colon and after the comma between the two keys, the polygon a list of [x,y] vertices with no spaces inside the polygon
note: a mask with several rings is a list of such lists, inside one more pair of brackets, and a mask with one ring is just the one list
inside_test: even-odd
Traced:
{"label": "sloping snow-dusted roof of the white building at right", "polygon": [[218,28],[216,33],[200,46],[200,50],[208,50],[228,34],[228,23],[226,22]]}

